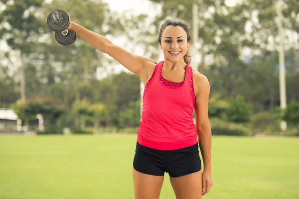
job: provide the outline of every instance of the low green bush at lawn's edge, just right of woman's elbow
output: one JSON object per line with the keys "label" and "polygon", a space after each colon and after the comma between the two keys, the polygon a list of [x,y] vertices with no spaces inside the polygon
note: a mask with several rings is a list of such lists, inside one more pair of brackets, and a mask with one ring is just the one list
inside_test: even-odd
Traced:
{"label": "low green bush at lawn's edge, just right of woman's elbow", "polygon": [[211,118],[212,135],[250,136],[252,132],[243,124],[227,122],[219,118]]}

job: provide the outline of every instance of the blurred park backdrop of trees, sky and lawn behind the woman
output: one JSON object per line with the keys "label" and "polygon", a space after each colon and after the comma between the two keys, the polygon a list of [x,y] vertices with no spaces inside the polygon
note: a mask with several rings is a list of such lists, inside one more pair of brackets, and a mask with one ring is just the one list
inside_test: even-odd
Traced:
{"label": "blurred park backdrop of trees, sky and lawn behind the woman", "polygon": [[297,0],[0,0],[1,199],[134,198],[144,87],[80,37],[58,44],[46,24],[58,8],[157,62],[160,25],[185,20],[191,66],[211,86],[215,191],[205,197],[299,198]]}

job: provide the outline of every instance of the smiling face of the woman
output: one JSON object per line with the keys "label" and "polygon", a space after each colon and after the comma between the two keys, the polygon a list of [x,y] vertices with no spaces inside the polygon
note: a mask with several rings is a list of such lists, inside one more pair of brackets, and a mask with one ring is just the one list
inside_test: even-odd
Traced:
{"label": "smiling face of the woman", "polygon": [[183,59],[188,46],[187,33],[182,27],[168,25],[162,32],[160,48],[165,59],[173,62]]}

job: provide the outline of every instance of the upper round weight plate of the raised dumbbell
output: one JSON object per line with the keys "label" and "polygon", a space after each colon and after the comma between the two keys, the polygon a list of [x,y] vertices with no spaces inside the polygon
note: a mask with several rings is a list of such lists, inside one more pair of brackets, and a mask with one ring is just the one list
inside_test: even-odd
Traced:
{"label": "upper round weight plate of the raised dumbbell", "polygon": [[[58,13],[58,20],[55,20],[53,17],[53,12],[56,11]],[[47,17],[47,24],[53,31],[63,31],[67,29],[67,27],[71,23],[70,15],[62,9],[55,9],[51,11]]]}

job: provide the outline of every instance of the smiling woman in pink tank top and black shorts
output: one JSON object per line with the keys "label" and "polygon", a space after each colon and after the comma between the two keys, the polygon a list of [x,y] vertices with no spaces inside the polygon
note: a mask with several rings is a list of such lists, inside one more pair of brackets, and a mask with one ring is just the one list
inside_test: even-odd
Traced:
{"label": "smiling woman in pink tank top and black shorts", "polygon": [[201,199],[212,186],[210,87],[207,78],[189,66],[187,24],[176,19],[161,25],[158,41],[164,61],[159,63],[134,55],[74,22],[68,29],[138,75],[145,85],[133,163],[135,198],[158,199],[166,172],[177,199]]}

